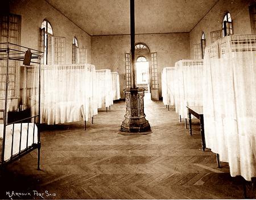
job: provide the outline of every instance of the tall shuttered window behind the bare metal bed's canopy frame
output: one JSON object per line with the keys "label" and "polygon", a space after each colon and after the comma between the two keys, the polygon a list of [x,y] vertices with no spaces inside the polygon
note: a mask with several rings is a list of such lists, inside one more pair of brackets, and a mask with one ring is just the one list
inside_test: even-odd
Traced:
{"label": "tall shuttered window behind the bare metal bed's canopy frame", "polygon": [[[0,16],[0,42],[11,42],[20,45],[21,16],[15,14]],[[1,46],[2,48],[2,46]],[[14,46],[12,46],[14,48]],[[18,48],[18,46],[15,46]],[[18,82],[18,61],[9,60],[9,94],[10,97],[16,97],[19,93]],[[5,94],[6,79],[6,61],[0,61],[0,96]],[[3,80],[3,82],[2,82]]]}

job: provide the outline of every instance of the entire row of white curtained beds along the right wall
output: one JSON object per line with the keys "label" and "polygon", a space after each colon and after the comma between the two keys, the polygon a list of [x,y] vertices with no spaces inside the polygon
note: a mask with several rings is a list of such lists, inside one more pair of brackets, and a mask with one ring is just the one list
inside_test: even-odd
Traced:
{"label": "entire row of white curtained beds along the right wall", "polygon": [[230,35],[208,45],[203,60],[162,73],[164,105],[175,105],[181,118],[187,106],[203,107],[206,147],[247,181],[256,177],[255,52],[256,35]]}

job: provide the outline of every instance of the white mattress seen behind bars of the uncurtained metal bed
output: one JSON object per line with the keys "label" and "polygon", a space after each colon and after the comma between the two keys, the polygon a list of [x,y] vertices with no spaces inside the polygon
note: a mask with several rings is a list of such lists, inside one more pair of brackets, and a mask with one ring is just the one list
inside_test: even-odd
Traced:
{"label": "white mattress seen behind bars of the uncurtained metal bed", "polygon": [[[25,150],[27,147],[27,130],[28,130],[28,147],[33,144],[33,130],[34,123],[22,123],[22,140],[20,150]],[[13,134],[13,125],[6,126],[6,139],[5,139],[5,160],[11,158],[11,142]],[[13,155],[19,153],[19,142],[20,142],[20,124],[14,124],[14,137],[13,137]],[[38,143],[38,127],[35,125],[34,132],[34,143]],[[0,124],[0,144],[2,155],[2,144],[3,144],[3,124]],[[1,156],[2,157],[2,156]]]}

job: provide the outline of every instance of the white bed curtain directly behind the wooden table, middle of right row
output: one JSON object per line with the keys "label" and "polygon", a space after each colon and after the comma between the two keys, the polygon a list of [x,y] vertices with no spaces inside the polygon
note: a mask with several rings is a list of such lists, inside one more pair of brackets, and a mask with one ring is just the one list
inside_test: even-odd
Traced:
{"label": "white bed curtain directly behind the wooden table, middle of right row", "polygon": [[175,63],[175,109],[187,118],[187,106],[203,105],[203,60],[181,60]]}

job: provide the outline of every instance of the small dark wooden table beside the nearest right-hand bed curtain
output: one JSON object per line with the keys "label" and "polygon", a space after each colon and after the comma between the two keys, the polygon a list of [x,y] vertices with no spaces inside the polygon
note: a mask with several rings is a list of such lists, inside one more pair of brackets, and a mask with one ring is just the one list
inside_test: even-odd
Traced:
{"label": "small dark wooden table beside the nearest right-hand bed curtain", "polygon": [[192,135],[192,121],[191,114],[200,120],[200,134],[202,140],[202,150],[205,150],[205,137],[204,137],[204,114],[203,107],[187,106],[188,108],[188,122],[189,122],[189,133]]}

